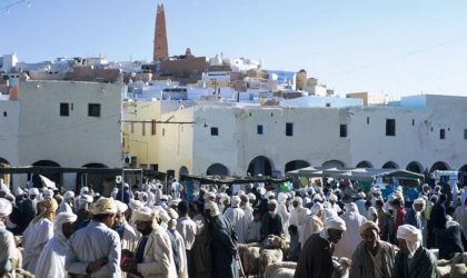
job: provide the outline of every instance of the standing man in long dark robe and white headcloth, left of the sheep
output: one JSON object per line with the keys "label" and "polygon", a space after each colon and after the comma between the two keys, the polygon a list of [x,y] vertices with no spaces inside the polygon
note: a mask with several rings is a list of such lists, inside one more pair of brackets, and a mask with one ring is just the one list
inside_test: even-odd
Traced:
{"label": "standing man in long dark robe and white headcloth, left of the sheep", "polygon": [[213,278],[237,278],[237,234],[230,221],[223,217],[212,201],[205,203],[211,224],[212,276]]}

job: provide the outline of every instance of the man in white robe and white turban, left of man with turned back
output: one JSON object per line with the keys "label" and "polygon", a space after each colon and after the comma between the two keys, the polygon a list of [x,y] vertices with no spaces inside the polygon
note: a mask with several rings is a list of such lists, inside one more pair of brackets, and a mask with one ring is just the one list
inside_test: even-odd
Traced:
{"label": "man in white robe and white turban, left of man with turned back", "polygon": [[36,267],[37,278],[66,278],[64,257],[67,255],[67,240],[73,232],[72,224],[78,216],[71,212],[61,212],[53,219],[53,237],[40,254]]}

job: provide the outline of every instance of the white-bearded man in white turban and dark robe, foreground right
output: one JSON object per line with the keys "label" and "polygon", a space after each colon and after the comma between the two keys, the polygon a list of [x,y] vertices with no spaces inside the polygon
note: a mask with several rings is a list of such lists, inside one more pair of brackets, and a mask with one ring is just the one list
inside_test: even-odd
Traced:
{"label": "white-bearded man in white turban and dark robe, foreground right", "polygon": [[396,255],[393,277],[437,278],[435,256],[421,246],[421,232],[411,225],[401,225],[396,234],[400,251]]}

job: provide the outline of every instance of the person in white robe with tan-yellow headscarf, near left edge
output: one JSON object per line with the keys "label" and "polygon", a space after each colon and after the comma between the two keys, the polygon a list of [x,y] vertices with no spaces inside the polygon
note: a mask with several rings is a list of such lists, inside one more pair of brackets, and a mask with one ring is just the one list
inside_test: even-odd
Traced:
{"label": "person in white robe with tan-yellow headscarf, near left edge", "polygon": [[54,199],[46,199],[38,205],[40,214],[32,219],[23,232],[24,256],[22,267],[34,272],[39,256],[49,239],[53,237],[53,217],[58,208]]}

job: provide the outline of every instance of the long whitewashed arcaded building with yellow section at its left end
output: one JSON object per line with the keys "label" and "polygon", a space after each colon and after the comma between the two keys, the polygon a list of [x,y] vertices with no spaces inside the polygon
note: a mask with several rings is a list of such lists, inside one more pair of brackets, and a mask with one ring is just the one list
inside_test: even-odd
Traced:
{"label": "long whitewashed arcaded building with yellow section at its left end", "polygon": [[125,125],[125,151],[136,165],[176,176],[284,175],[308,165],[467,171],[467,98],[424,95],[378,107],[316,100],[127,103],[133,122],[132,132]]}

